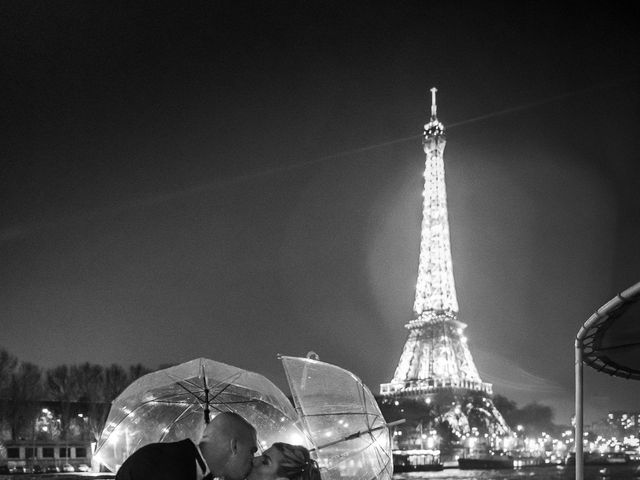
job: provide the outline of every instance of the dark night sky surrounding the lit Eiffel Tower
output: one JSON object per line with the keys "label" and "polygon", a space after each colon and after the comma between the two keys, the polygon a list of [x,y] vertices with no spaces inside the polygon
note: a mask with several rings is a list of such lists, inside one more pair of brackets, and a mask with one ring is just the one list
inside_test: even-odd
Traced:
{"label": "dark night sky surrounding the lit Eiffel Tower", "polygon": [[[0,7],[0,346],[43,367],[278,353],[377,392],[412,318],[432,86],[484,381],[569,423],[640,280],[640,4]],[[639,409],[590,369],[587,420]]]}

